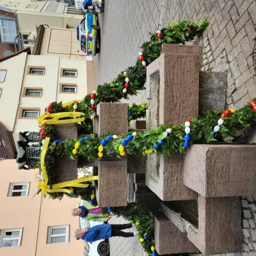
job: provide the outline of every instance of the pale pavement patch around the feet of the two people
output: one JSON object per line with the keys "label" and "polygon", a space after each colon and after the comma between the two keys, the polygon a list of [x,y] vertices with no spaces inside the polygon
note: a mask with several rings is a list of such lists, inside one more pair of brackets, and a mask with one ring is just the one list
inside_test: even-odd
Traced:
{"label": "pale pavement patch around the feet of the two people", "polygon": [[[111,218],[109,224],[125,224],[128,221],[122,217]],[[134,232],[135,228],[125,229],[124,232]],[[138,237],[112,237],[109,239],[111,256],[147,256],[143,248],[140,246]]]}

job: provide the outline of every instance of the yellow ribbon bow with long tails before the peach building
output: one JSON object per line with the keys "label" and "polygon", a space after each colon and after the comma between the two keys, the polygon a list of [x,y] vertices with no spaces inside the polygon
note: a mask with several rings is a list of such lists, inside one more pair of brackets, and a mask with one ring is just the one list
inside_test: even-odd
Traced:
{"label": "yellow ribbon bow with long tails before the peach building", "polygon": [[[91,180],[97,180],[98,176],[90,176],[90,177],[81,177],[76,180],[69,180],[66,182],[61,182],[53,185],[48,185],[48,175],[45,168],[45,154],[47,152],[47,148],[50,142],[50,138],[46,137],[44,146],[41,152],[41,170],[44,177],[44,182],[38,182],[38,188],[41,189],[42,195],[45,195],[46,193],[54,193],[54,192],[65,192],[65,193],[72,193],[75,188],[87,188],[89,184],[84,184],[83,182],[91,181]],[[69,187],[69,188],[68,188]]]}

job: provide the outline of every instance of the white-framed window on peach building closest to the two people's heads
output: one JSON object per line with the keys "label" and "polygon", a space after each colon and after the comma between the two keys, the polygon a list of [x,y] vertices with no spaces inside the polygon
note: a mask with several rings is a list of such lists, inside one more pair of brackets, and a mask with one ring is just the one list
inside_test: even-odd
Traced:
{"label": "white-framed window on peach building closest to the two people's heads", "polygon": [[68,243],[69,226],[48,227],[47,244]]}

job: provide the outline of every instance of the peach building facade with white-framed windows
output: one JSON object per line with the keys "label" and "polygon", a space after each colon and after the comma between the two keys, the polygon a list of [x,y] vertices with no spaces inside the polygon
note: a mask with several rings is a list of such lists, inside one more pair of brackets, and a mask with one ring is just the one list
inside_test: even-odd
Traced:
{"label": "peach building facade with white-framed windows", "polygon": [[79,218],[71,215],[78,200],[37,195],[37,173],[0,160],[0,255],[82,255],[83,241],[73,237]]}

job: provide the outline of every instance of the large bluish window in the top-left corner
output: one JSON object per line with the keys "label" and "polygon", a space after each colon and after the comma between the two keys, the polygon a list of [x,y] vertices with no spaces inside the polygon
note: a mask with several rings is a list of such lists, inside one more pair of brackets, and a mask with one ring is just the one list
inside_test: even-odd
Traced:
{"label": "large bluish window in the top-left corner", "polygon": [[0,20],[2,42],[14,43],[17,35],[15,20]]}

